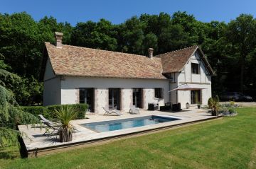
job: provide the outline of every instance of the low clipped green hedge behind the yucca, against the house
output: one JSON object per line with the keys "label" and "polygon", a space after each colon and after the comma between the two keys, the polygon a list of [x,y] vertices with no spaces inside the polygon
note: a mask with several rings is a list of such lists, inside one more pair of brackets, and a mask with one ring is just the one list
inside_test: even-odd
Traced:
{"label": "low clipped green hedge behind the yucca, against the house", "polygon": [[76,119],[84,119],[85,113],[87,111],[87,104],[73,104],[73,105],[49,105],[49,106],[21,106],[21,110],[24,112],[29,112],[32,115],[38,117],[38,115],[43,115],[49,120],[55,120],[54,110],[62,106],[71,106],[78,110],[78,116]]}

